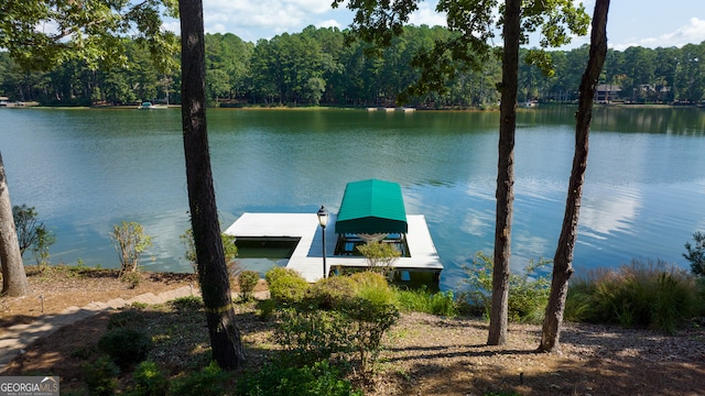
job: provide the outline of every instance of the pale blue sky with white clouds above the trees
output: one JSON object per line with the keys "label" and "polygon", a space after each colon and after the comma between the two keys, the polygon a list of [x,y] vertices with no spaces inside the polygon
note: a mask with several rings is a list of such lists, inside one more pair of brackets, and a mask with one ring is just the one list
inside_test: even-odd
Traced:
{"label": "pale blue sky with white clouds above the trees", "polygon": [[[248,42],[270,40],[282,33],[299,33],[308,25],[346,29],[352,12],[330,8],[332,0],[203,0],[206,33],[234,33]],[[411,18],[415,25],[444,25],[435,12],[437,0],[422,1]],[[584,1],[592,14],[595,0]],[[177,22],[166,24],[177,32]],[[629,46],[681,47],[705,41],[703,0],[611,0],[607,24],[608,45],[623,51]],[[588,43],[577,37],[564,50]],[[536,42],[538,44],[538,42]]]}

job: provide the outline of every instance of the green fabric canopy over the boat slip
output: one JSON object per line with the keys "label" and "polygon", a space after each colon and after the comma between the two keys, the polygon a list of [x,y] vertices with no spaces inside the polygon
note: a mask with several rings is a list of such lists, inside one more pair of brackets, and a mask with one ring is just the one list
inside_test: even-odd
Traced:
{"label": "green fabric canopy over the boat slip", "polygon": [[406,210],[397,183],[378,179],[350,182],[335,223],[338,234],[406,233]]}

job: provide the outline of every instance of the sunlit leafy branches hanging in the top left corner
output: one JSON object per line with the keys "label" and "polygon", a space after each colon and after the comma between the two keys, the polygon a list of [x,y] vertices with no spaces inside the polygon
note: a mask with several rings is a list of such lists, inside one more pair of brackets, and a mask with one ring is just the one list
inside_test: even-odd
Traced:
{"label": "sunlit leafy branches hanging in the top left corner", "polygon": [[162,70],[176,65],[174,33],[162,16],[176,16],[176,0],[9,0],[0,6],[0,47],[24,69],[45,69],[70,59],[89,68],[127,65],[122,38],[131,37],[154,55]]}

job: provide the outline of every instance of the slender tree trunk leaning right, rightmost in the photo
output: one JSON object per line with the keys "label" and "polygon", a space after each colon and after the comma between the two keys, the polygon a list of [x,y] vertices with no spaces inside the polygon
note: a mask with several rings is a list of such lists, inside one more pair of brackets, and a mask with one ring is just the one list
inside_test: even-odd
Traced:
{"label": "slender tree trunk leaning right, rightmost in the photo", "polygon": [[561,324],[565,310],[565,298],[568,293],[568,280],[573,275],[573,251],[577,239],[577,222],[583,197],[583,183],[587,169],[587,148],[593,118],[593,99],[599,74],[603,70],[607,55],[607,11],[609,0],[597,0],[593,14],[593,33],[590,36],[590,52],[581,81],[578,110],[575,114],[575,155],[573,169],[568,183],[568,194],[565,201],[565,216],[558,245],[553,257],[553,280],[551,295],[546,305],[543,328],[541,331],[540,351],[554,352],[560,349]]}

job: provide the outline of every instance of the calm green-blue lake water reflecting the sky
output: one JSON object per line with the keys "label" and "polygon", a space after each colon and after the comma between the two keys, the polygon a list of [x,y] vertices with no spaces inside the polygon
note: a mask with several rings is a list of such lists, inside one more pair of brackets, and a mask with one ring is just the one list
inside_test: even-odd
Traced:
{"label": "calm green-blue lake water reflecting the sky", "polygon": [[[516,145],[512,267],[553,257],[574,150],[570,107],[522,109]],[[208,110],[224,227],[246,211],[337,212],[348,182],[401,184],[408,213],[425,215],[445,270],[463,278],[491,253],[497,112]],[[1,109],[0,151],[13,205],[33,206],[57,237],[53,263],[111,267],[108,232],[138,221],[154,235],[143,265],[191,271],[177,109]],[[632,258],[684,268],[683,244],[705,230],[705,111],[596,109],[581,210],[579,273]],[[28,252],[25,261],[33,263]],[[258,270],[262,264],[250,258]]]}

